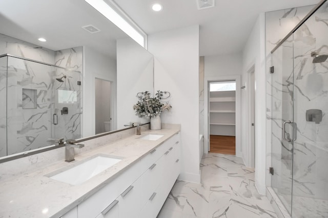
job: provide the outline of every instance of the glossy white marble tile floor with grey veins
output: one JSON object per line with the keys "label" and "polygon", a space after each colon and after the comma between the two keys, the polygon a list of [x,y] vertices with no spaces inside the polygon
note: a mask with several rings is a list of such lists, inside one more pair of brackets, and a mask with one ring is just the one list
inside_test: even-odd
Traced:
{"label": "glossy white marble tile floor with grey veins", "polygon": [[200,169],[200,184],[176,181],[157,218],[277,217],[241,158],[204,154]]}

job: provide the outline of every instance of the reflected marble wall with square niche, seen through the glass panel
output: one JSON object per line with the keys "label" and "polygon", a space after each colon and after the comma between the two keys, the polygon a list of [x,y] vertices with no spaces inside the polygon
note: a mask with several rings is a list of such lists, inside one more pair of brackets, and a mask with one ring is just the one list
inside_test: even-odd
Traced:
{"label": "reflected marble wall with square niche, seen through the glass panel", "polygon": [[52,67],[8,57],[8,155],[50,145]]}

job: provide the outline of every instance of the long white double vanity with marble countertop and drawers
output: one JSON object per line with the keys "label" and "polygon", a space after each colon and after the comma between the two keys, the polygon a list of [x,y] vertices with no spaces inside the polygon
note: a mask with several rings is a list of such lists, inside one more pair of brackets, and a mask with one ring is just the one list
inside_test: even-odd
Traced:
{"label": "long white double vanity with marble countertop and drawers", "polygon": [[[99,156],[117,161],[82,182],[51,178],[70,172],[71,180],[78,179],[81,175],[75,169]],[[63,157],[36,171],[3,179],[0,216],[154,218],[179,174],[179,128],[143,131],[81,152],[71,163]]]}

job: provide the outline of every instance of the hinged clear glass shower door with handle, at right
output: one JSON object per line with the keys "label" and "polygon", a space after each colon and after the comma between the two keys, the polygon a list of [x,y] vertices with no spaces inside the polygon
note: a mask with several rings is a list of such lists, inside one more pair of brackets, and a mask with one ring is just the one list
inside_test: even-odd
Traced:
{"label": "hinged clear glass shower door with handle, at right", "polygon": [[293,36],[273,54],[271,186],[291,214],[293,177]]}

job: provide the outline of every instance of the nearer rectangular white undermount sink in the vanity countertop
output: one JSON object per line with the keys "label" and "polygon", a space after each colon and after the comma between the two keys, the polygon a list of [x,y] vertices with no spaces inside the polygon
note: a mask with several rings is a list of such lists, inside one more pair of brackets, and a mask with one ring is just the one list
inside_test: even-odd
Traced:
{"label": "nearer rectangular white undermount sink in the vanity countertop", "polygon": [[47,176],[57,181],[78,185],[105,171],[105,169],[119,161],[121,161],[119,157],[96,155],[76,166],[64,169],[64,171],[61,169],[59,173],[56,171]]}

